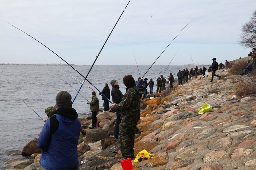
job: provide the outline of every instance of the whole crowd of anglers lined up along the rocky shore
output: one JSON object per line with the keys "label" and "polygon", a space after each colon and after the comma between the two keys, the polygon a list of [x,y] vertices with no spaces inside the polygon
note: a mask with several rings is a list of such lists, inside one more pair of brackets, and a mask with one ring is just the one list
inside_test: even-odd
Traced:
{"label": "whole crowd of anglers lined up along the rocky shore", "polygon": [[[241,73],[245,75],[256,69],[256,52],[255,48],[249,54],[251,60],[247,61],[247,67]],[[248,55],[248,56],[249,56]],[[216,70],[223,69],[229,65],[226,60],[225,65],[217,63],[216,58],[212,59],[212,65],[208,68],[208,72],[212,72],[211,81],[214,76],[221,79],[221,76],[216,75]],[[196,66],[195,68],[188,68],[179,70],[178,85],[188,82],[188,79],[197,78],[199,75],[206,76],[206,67]],[[155,85],[153,79],[138,78],[134,80],[132,75],[126,75],[122,79],[126,86],[126,93],[123,95],[120,91],[118,81],[112,79],[110,81],[112,104],[111,110],[116,112],[116,123],[114,126],[114,137],[119,139],[119,146],[124,159],[134,158],[134,136],[141,131],[137,128],[137,122],[140,120],[140,99],[147,98],[148,87],[149,94],[153,94],[153,87]],[[157,90],[161,93],[166,90],[166,79],[163,75],[156,80]],[[168,77],[169,87],[173,88],[174,76],[170,73]],[[99,93],[102,95],[101,100],[104,100],[104,111],[109,111],[110,89],[108,84],[104,84],[103,91]],[[97,128],[97,113],[99,112],[99,99],[96,92],[91,93],[91,101],[87,102],[91,109],[91,129]],[[49,117],[45,122],[42,131],[38,134],[38,146],[42,149],[40,157],[40,164],[45,169],[68,169],[75,170],[78,168],[77,145],[80,136],[81,124],[78,119],[76,110],[72,108],[71,95],[67,91],[61,91],[56,96],[56,105],[45,109],[45,113]],[[61,156],[60,156],[61,155]]]}

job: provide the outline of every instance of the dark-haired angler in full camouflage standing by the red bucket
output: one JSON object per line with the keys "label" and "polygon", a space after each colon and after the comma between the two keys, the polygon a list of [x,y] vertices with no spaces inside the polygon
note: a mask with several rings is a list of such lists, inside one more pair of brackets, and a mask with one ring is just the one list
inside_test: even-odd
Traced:
{"label": "dark-haired angler in full camouflage standing by the red bucket", "polygon": [[124,85],[126,93],[119,104],[113,103],[112,107],[121,111],[121,123],[119,127],[119,145],[122,156],[126,158],[135,158],[134,156],[134,135],[137,121],[140,120],[140,95],[135,85],[132,75],[124,76]]}

